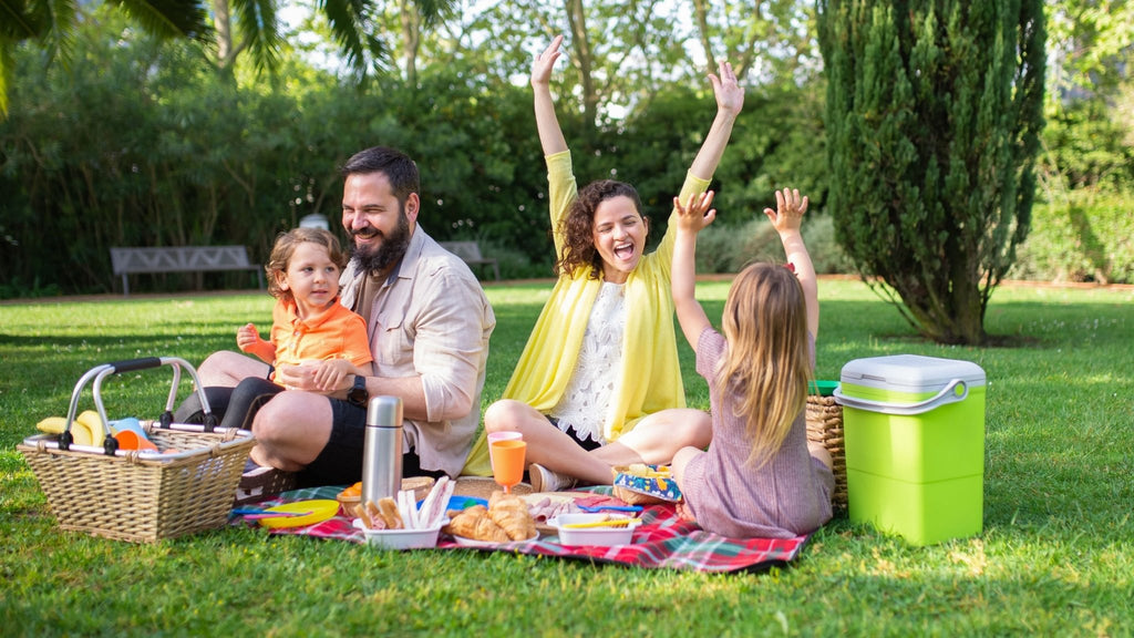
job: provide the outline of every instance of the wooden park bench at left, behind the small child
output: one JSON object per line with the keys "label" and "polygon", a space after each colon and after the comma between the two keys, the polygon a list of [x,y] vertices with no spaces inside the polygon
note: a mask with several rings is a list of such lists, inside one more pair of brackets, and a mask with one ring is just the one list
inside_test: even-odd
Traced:
{"label": "wooden park bench at left, behind the small child", "polygon": [[112,247],[115,275],[122,276],[122,295],[130,295],[129,276],[139,272],[203,272],[206,270],[254,270],[260,288],[264,269],[248,261],[244,246]]}

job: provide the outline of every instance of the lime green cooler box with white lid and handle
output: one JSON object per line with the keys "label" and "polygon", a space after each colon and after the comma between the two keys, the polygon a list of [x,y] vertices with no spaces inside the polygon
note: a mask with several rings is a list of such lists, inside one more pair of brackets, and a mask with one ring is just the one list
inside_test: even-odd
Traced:
{"label": "lime green cooler box with white lid and handle", "polygon": [[984,370],[914,354],[843,367],[847,514],[915,545],[981,532]]}

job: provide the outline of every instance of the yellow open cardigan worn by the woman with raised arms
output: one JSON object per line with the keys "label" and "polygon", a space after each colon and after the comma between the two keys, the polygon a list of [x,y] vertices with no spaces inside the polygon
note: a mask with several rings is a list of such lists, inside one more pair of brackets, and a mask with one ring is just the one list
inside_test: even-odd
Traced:
{"label": "yellow open cardigan worn by the woman with raised arms", "polygon": [[[578,198],[570,151],[545,158],[550,195],[551,228],[556,254],[562,254],[560,220]],[[709,181],[686,175],[680,200],[703,193]],[[670,213],[672,221],[672,212]],[[674,225],[667,228],[658,250],[643,255],[626,280],[626,329],[623,336],[620,383],[612,397],[613,419],[603,425],[603,436],[616,440],[645,415],[668,408],[685,406],[685,387],[677,360],[674,333],[674,299],[669,285],[674,258]],[[575,372],[583,334],[594,300],[602,287],[591,269],[560,275],[543,307],[524,352],[503,391],[502,398],[524,402],[540,412],[550,412],[559,402]],[[482,431],[465,464],[465,475],[491,476],[488,442]]]}

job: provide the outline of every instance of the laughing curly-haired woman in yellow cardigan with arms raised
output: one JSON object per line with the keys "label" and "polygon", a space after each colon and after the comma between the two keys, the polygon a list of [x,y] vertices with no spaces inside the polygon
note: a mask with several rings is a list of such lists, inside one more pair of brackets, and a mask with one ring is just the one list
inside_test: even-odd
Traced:
{"label": "laughing curly-haired woman in yellow cardigan with arms raised", "polygon": [[[668,463],[682,447],[708,445],[712,429],[706,413],[685,408],[669,287],[672,232],[644,254],[650,224],[633,186],[602,179],[576,187],[549,86],[561,43],[559,35],[532,65],[558,282],[503,398],[484,414],[485,431],[523,434],[538,492],[610,482],[613,465]],[[709,78],[717,116],[682,201],[708,188],[744,106],[731,66]],[[479,443],[465,471],[486,475],[483,436]]]}

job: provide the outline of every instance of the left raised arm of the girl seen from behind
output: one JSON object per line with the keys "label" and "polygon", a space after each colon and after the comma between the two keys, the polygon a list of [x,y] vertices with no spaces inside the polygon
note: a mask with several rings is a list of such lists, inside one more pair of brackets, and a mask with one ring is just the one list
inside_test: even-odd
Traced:
{"label": "left raised arm of the girl seen from behind", "polygon": [[697,349],[701,333],[709,324],[701,304],[697,303],[696,291],[696,246],[697,233],[712,224],[717,211],[712,204],[713,192],[692,195],[687,205],[674,198],[674,261],[670,270],[669,285],[674,294],[674,310],[677,311],[677,322],[682,326],[685,339],[693,350]]}

